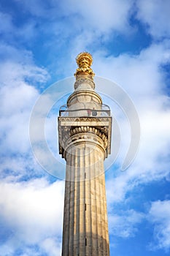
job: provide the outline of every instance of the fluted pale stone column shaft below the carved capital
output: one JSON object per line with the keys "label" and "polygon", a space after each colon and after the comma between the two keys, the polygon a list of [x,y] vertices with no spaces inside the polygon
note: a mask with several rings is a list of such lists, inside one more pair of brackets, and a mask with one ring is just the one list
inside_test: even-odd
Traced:
{"label": "fluted pale stone column shaft below the carved capital", "polygon": [[88,136],[66,151],[62,256],[109,256],[104,148]]}

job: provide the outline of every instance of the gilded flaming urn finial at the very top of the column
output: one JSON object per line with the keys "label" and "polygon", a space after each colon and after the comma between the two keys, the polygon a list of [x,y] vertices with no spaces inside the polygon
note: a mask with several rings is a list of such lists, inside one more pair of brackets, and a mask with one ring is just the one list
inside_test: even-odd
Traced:
{"label": "gilded flaming urn finial at the very top of the column", "polygon": [[95,75],[93,73],[93,70],[90,68],[91,64],[93,63],[93,58],[90,55],[90,53],[80,53],[77,58],[77,65],[79,66],[76,70],[76,73],[74,74],[76,76],[76,79],[82,78],[82,77],[88,77],[90,79],[93,79],[93,76]]}

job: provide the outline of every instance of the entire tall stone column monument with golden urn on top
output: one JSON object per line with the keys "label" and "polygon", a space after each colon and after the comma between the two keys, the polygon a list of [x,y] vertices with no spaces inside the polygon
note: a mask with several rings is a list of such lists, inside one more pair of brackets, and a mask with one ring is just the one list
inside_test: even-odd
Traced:
{"label": "entire tall stone column monument with golden urn on top", "polygon": [[66,159],[63,256],[109,256],[104,159],[112,117],[95,91],[92,56],[80,53],[74,92],[58,117],[59,152]]}

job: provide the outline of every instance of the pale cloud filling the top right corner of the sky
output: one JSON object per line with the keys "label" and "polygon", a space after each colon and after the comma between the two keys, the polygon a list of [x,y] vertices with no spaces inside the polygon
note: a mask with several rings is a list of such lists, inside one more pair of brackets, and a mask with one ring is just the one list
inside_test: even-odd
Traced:
{"label": "pale cloud filling the top right corner of the sky", "polygon": [[136,6],[138,8],[137,18],[147,24],[153,37],[170,36],[169,0],[139,0],[136,1]]}

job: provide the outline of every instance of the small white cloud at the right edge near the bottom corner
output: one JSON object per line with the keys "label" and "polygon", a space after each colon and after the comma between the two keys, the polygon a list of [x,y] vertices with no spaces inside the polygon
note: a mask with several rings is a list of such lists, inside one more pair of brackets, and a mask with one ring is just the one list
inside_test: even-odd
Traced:
{"label": "small white cloud at the right edge near the bottom corner", "polygon": [[170,200],[152,202],[148,220],[154,225],[155,243],[150,249],[170,249]]}

